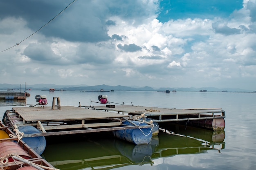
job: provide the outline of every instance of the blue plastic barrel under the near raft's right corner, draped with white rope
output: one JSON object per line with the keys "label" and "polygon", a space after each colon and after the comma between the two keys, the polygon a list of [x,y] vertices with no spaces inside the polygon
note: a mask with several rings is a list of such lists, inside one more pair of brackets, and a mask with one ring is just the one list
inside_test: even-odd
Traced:
{"label": "blue plastic barrel under the near raft's right corner, draped with white rope", "polygon": [[[132,121],[132,122],[139,126],[148,125],[144,122],[141,123],[141,121]],[[122,123],[126,125],[134,126],[128,121],[123,121]],[[115,137],[134,143],[136,145],[149,144],[152,138],[151,128],[116,130],[114,133],[115,133]]]}

